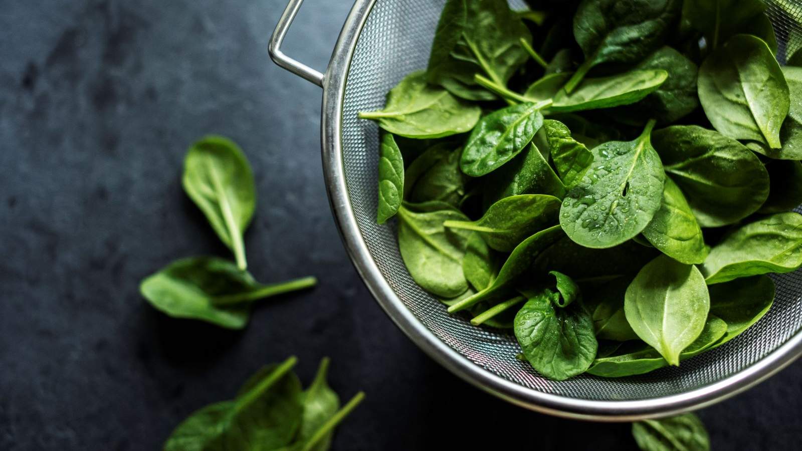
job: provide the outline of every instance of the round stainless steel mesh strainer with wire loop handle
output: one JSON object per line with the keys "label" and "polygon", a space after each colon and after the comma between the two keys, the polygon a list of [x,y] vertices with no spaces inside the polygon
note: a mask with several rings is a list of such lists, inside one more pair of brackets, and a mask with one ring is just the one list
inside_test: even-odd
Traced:
{"label": "round stainless steel mesh strainer with wire loop handle", "polygon": [[[395,224],[377,225],[378,130],[357,112],[383,107],[384,95],[404,75],[426,67],[444,0],[357,0],[326,73],[280,49],[302,0],[290,0],[270,56],[323,88],[322,159],[331,208],[343,242],[379,304],[423,351],[464,380],[496,396],[558,416],[633,421],[701,408],[741,392],[802,354],[802,271],[774,277],[768,314],[723,347],[642,376],[577,376],[555,382],[516,360],[512,335],[473,327],[412,281],[399,254]],[[781,51],[802,47],[802,6],[769,0]],[[522,6],[522,5],[516,5]],[[371,339],[371,337],[367,337]]]}

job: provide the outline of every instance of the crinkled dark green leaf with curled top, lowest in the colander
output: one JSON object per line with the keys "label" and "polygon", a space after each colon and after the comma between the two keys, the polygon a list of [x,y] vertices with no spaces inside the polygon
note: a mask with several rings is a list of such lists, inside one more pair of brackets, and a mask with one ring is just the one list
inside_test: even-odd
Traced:
{"label": "crinkled dark green leaf with curled top, lowest in the colander", "polygon": [[581,302],[558,307],[559,295],[534,291],[515,315],[515,337],[529,364],[551,380],[566,380],[593,364],[598,343]]}

